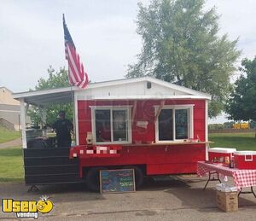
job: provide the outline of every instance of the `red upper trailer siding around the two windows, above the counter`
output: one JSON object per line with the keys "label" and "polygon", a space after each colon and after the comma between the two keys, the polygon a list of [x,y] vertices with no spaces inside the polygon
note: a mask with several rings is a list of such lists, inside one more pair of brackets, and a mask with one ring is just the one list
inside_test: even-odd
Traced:
{"label": "red upper trailer siding around the two windows, above the counter", "polygon": [[[194,137],[205,141],[205,100],[166,100],[165,105],[194,104]],[[91,129],[90,106],[119,106],[134,105],[134,101],[78,101],[79,113],[79,144],[86,144],[86,135]],[[132,142],[155,141],[154,139],[154,105],[160,105],[160,101],[137,101],[137,109],[134,121],[148,120],[147,129],[139,128],[133,124]],[[133,108],[131,108],[131,112]]]}

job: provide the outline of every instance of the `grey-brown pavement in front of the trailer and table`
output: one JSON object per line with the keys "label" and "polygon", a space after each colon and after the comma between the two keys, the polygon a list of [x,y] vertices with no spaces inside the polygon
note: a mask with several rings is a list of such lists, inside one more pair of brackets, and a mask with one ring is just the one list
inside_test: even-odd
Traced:
{"label": "grey-brown pavement in front of the trailer and table", "polygon": [[[22,183],[0,183],[0,196],[39,200],[49,195],[55,207],[49,214],[39,213],[40,220],[255,220],[253,195],[239,197],[238,212],[222,212],[215,204],[214,183],[202,191],[205,183],[205,177],[158,177],[148,179],[136,193],[108,195],[90,193],[81,184],[44,186],[27,193]],[[0,220],[14,218],[14,213],[3,214],[1,209]]]}

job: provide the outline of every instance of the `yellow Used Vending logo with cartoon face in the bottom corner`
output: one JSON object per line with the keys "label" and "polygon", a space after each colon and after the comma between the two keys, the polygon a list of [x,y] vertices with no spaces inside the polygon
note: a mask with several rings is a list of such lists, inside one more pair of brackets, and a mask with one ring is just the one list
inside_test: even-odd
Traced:
{"label": "yellow Used Vending logo with cartoon face in the bottom corner", "polygon": [[38,212],[48,213],[53,209],[53,202],[47,195],[42,195],[39,201],[2,200],[3,212],[15,212],[17,218],[38,218]]}

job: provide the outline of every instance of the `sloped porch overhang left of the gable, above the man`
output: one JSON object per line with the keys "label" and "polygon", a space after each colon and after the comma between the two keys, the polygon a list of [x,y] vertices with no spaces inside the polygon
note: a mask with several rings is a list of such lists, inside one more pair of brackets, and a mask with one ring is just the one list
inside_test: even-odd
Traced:
{"label": "sloped porch overhang left of the gable, above the man", "polygon": [[73,88],[58,88],[50,90],[35,90],[22,93],[15,93],[17,100],[24,99],[24,102],[36,106],[49,106],[55,103],[73,102]]}

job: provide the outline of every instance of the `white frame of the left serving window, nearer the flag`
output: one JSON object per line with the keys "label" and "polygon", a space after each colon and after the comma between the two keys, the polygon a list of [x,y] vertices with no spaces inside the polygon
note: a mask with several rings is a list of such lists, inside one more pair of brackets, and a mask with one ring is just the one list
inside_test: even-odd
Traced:
{"label": "white frame of the left serving window, nearer the flag", "polygon": [[[90,106],[92,143],[102,144],[129,144],[131,143],[131,107],[132,106]],[[96,110],[110,110],[111,142],[96,142]],[[125,110],[127,113],[127,141],[113,141],[113,110]]]}

